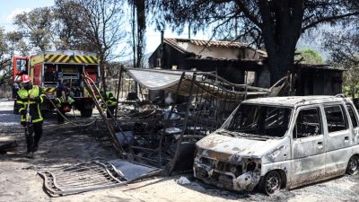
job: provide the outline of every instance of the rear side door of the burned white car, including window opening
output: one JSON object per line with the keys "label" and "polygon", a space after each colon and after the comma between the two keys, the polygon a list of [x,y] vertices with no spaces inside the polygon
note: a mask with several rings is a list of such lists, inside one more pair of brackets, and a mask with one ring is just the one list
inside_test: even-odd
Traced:
{"label": "rear side door of the burned white car, including window opening", "polygon": [[343,103],[324,106],[326,136],[326,176],[336,176],[346,171],[351,154],[352,134]]}

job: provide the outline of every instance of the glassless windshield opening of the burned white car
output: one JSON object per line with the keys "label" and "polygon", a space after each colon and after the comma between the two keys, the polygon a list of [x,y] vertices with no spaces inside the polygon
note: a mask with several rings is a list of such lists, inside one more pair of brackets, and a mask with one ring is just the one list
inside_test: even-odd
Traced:
{"label": "glassless windshield opening of the burned white car", "polygon": [[232,136],[278,138],[285,136],[292,116],[293,107],[242,103],[222,129]]}

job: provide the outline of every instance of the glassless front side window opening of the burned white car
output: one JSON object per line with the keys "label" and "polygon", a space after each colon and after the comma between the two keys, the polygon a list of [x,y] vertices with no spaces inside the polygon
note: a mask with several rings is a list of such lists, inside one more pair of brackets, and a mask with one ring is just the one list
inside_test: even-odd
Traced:
{"label": "glassless front side window opening of the burned white car", "polygon": [[300,110],[295,120],[293,138],[307,136],[319,136],[322,134],[322,124],[320,121],[320,109],[311,108]]}

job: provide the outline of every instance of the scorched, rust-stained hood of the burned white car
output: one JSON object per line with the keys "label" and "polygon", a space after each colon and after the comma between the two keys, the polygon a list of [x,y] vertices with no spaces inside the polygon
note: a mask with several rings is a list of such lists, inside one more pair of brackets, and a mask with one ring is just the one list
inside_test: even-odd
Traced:
{"label": "scorched, rust-stained hood of the burned white car", "polygon": [[281,146],[282,139],[254,140],[212,134],[197,142],[198,154],[219,161],[238,162],[242,157],[261,158]]}

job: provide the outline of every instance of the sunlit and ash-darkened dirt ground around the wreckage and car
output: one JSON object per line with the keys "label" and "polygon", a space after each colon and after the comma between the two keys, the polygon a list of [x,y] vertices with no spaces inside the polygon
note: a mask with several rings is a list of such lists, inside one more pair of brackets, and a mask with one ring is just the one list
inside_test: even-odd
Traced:
{"label": "sunlit and ash-darkened dirt ground around the wreckage and car", "polygon": [[[94,115],[96,117],[96,114]],[[76,119],[89,122],[91,119]],[[103,132],[92,127],[57,125],[55,114],[48,114],[44,135],[34,159],[22,157],[25,139],[19,116],[13,115],[13,101],[0,101],[0,143],[16,140],[19,147],[8,154],[0,154],[0,201],[357,201],[359,175],[343,176],[311,186],[281,190],[276,196],[260,193],[237,193],[218,189],[185,175],[189,185],[176,182],[179,176],[157,176],[123,187],[101,189],[81,194],[50,198],[43,189],[37,171],[93,160],[116,159],[114,151],[100,145],[97,136]]]}

